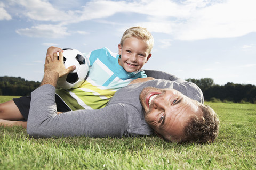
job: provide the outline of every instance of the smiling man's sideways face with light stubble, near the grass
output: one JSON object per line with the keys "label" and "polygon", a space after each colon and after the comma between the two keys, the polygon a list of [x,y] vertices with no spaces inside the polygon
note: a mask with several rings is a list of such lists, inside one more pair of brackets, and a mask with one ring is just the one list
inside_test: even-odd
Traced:
{"label": "smiling man's sideways face with light stubble, near the grass", "polygon": [[174,89],[146,87],[140,94],[145,120],[158,135],[171,141],[184,137],[183,129],[193,115],[201,117],[196,101]]}

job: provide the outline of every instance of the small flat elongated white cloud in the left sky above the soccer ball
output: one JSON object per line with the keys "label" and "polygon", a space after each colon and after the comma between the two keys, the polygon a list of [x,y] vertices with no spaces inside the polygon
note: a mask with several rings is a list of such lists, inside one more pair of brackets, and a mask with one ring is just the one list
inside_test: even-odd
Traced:
{"label": "small flat elongated white cloud in the left sky above the soccer ball", "polygon": [[37,25],[31,28],[16,30],[16,33],[28,37],[61,38],[69,35],[67,28],[63,25]]}

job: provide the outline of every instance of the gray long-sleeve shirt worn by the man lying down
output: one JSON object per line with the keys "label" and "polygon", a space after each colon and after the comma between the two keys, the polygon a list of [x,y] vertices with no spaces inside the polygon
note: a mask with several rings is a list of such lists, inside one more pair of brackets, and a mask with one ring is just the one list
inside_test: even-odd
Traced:
{"label": "gray long-sleeve shirt worn by the man lying down", "polygon": [[[57,114],[55,87],[44,85],[31,93],[27,133],[35,137],[122,137],[151,135],[153,130],[146,123],[139,95],[143,88],[173,88],[191,99],[203,103],[202,91],[193,83],[173,75],[146,72],[151,80],[126,86],[116,92],[105,108],[78,110]],[[169,81],[170,80],[170,81]]]}

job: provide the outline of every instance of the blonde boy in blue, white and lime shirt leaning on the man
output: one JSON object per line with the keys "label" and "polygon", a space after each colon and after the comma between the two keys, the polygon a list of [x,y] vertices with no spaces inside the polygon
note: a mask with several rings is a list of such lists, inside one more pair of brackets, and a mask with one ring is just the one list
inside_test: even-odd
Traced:
{"label": "blonde boy in blue, white and lime shirt leaning on the man", "polygon": [[[106,106],[115,92],[127,86],[132,80],[147,77],[142,66],[151,57],[154,39],[145,28],[127,29],[118,44],[118,54],[107,48],[84,53],[89,57],[90,73],[86,81],[76,89],[57,89],[56,103],[59,112],[77,109],[99,109]],[[53,58],[61,50],[49,47],[47,55]],[[0,104],[0,124],[21,125],[26,128],[30,97],[21,97]]]}

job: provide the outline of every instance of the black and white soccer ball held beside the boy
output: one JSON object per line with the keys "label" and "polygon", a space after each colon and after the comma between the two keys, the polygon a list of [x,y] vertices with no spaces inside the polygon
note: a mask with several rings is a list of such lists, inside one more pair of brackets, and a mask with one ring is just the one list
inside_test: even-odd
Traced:
{"label": "black and white soccer ball held beside the boy", "polygon": [[87,58],[76,49],[63,49],[63,59],[66,68],[75,65],[76,69],[69,74],[60,77],[57,82],[57,88],[75,89],[83,84],[89,74],[89,63]]}

